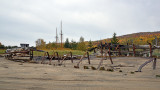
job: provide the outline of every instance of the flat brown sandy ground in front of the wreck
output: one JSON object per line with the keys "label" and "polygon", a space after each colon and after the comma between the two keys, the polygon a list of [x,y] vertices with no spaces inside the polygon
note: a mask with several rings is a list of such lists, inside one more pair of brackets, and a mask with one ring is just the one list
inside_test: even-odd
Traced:
{"label": "flat brown sandy ground in front of the wreck", "polygon": [[[0,58],[0,90],[160,90],[160,60],[157,69],[152,70],[152,63],[134,72],[147,59],[143,58],[115,58],[111,65],[105,60],[103,66],[107,69],[115,67],[114,72],[83,69],[83,66],[98,66],[99,60],[91,60],[80,64],[79,69],[73,68],[66,61],[65,65],[54,66],[48,64],[21,63]],[[54,63],[54,62],[53,62]],[[55,62],[56,63],[56,62]],[[122,72],[119,72],[122,70]],[[134,73],[131,73],[134,72]]]}

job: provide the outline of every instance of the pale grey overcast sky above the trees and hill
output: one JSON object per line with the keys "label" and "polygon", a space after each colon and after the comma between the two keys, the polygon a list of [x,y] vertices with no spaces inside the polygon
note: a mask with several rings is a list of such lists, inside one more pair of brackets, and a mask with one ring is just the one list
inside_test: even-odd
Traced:
{"label": "pale grey overcast sky above the trees and hill", "polygon": [[0,0],[0,42],[53,42],[61,20],[64,41],[159,31],[160,0]]}

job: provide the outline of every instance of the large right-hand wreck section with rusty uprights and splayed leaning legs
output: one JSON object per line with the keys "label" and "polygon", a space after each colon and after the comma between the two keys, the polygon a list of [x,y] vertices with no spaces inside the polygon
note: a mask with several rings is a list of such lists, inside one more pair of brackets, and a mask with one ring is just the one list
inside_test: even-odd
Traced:
{"label": "large right-hand wreck section with rusty uprights and splayed leaning legs", "polygon": [[[144,56],[144,57],[147,57],[147,54],[148,54],[149,61],[146,61],[144,64],[142,64],[139,67],[138,72],[141,72],[141,69],[146,64],[150,63],[151,61],[153,61],[153,70],[156,69],[156,58],[152,55],[152,53],[154,49],[160,49],[159,46],[152,46],[151,43],[148,43],[148,45],[134,45],[134,44],[133,45],[128,45],[128,44],[127,45],[112,45],[110,43],[102,44],[102,42],[97,48],[100,49],[101,57],[102,57],[97,69],[100,68],[100,66],[103,63],[104,58],[106,57],[109,57],[111,64],[113,64],[112,56],[114,55],[115,56],[134,56],[134,57]],[[132,51],[130,51],[131,49]],[[136,51],[136,49],[138,50]]]}

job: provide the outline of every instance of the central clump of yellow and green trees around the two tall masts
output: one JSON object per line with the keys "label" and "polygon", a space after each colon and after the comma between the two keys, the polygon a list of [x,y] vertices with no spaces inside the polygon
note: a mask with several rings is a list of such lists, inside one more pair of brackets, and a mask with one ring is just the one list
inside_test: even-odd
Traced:
{"label": "central clump of yellow and green trees around the two tall masts", "polygon": [[[37,49],[62,49],[60,43],[56,43],[56,42],[46,43],[43,39],[38,39],[38,40],[36,40],[35,43],[36,43]],[[93,46],[92,41],[90,40],[89,43],[86,43],[84,41],[84,37],[82,37],[82,36],[80,37],[78,42],[76,42],[74,40],[71,40],[71,42],[70,42],[69,39],[66,38],[65,42],[63,43],[63,49],[68,48],[68,49],[72,49],[72,50],[85,51],[87,48],[91,48],[92,46]]]}

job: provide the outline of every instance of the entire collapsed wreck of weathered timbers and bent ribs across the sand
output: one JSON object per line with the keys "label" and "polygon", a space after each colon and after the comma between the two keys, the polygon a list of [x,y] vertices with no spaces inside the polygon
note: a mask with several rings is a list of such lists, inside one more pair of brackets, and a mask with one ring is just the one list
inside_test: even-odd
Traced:
{"label": "entire collapsed wreck of weathered timbers and bent ribs across the sand", "polygon": [[[86,51],[79,59],[78,56],[74,56],[72,52],[68,52],[67,54],[60,56],[58,52],[54,52],[52,55],[49,55],[49,52],[44,52],[43,57],[40,59],[41,64],[49,64],[53,65],[53,61],[58,61],[58,65],[61,66],[65,64],[64,62],[66,60],[71,60],[71,63],[74,63],[73,60],[79,60],[74,68],[79,68],[80,63],[88,59],[88,64],[91,64],[91,55],[89,55],[89,51],[94,51],[94,53],[99,52],[99,54],[94,54],[97,58],[100,57],[99,64],[97,66],[97,70],[100,69],[100,67],[103,65],[104,60],[109,58],[111,64],[113,64],[112,57],[121,57],[121,56],[133,56],[133,57],[149,57],[148,61],[146,61],[144,64],[142,64],[137,72],[141,72],[142,68],[147,65],[148,63],[153,61],[153,70],[156,69],[156,57],[153,56],[153,50],[154,49],[160,49],[160,46],[153,46],[151,43],[148,43],[148,45],[119,45],[119,44],[111,44],[111,43],[105,43],[102,42],[94,48],[91,48],[90,50]],[[7,51],[5,54],[6,59],[10,60],[32,60],[33,59],[33,49],[31,48],[17,48],[12,49],[10,51]],[[36,50],[36,51],[42,51],[42,50]],[[84,59],[85,58],[85,59]]]}

